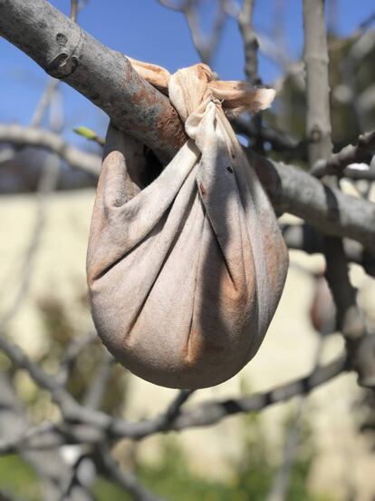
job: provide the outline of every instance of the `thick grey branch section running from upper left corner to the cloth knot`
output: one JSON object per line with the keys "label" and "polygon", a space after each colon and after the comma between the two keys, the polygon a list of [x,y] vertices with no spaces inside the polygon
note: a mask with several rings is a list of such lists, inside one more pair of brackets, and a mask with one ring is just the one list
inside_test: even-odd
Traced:
{"label": "thick grey branch section running from upper left corner to the cloth knot", "polygon": [[186,141],[168,98],[140,78],[123,54],[92,38],[46,0],[0,0],[0,34],[162,160]]}

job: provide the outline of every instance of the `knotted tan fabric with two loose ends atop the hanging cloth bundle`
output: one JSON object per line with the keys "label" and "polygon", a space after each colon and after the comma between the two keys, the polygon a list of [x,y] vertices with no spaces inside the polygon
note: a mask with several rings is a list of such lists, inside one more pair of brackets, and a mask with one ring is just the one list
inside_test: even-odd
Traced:
{"label": "knotted tan fabric with two loose ends atop the hanging cloth bundle", "polygon": [[134,69],[160,92],[169,96],[183,122],[190,114],[204,111],[209,102],[221,103],[224,112],[237,116],[244,112],[256,113],[268,108],[274,101],[274,89],[254,88],[240,81],[215,80],[207,64],[194,64],[169,74],[168,70],[128,58]]}

